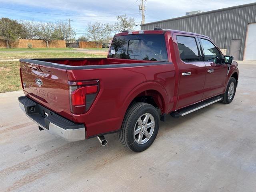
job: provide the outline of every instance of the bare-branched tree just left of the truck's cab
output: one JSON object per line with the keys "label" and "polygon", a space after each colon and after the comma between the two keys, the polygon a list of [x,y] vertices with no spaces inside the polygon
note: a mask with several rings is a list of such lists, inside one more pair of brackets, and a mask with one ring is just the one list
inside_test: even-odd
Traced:
{"label": "bare-branched tree just left of the truck's cab", "polygon": [[110,30],[106,24],[102,24],[100,22],[96,22],[94,24],[89,23],[87,25],[87,34],[88,38],[95,42],[98,48],[100,43],[109,38]]}

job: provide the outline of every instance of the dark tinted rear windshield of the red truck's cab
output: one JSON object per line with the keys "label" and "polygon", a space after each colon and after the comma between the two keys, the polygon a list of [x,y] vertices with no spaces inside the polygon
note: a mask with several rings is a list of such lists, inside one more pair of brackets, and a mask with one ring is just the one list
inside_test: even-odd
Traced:
{"label": "dark tinted rear windshield of the red truck's cab", "polygon": [[136,34],[114,37],[109,58],[168,61],[163,34]]}

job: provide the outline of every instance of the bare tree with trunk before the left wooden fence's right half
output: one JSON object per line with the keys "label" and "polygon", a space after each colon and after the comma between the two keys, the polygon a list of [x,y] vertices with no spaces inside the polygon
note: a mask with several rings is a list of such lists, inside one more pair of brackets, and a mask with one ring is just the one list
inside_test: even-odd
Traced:
{"label": "bare tree with trunk before the left wooden fence's right half", "polygon": [[46,47],[49,48],[49,42],[53,39],[54,24],[51,22],[40,23],[38,30],[38,37],[46,42]]}

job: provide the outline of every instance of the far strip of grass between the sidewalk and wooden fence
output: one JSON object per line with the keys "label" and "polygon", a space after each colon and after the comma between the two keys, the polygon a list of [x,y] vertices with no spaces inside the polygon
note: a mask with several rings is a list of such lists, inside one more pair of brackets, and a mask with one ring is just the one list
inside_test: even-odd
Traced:
{"label": "far strip of grass between the sidewalk and wooden fence", "polygon": [[0,59],[21,58],[84,58],[84,57],[106,57],[106,54],[89,54],[83,52],[0,52]]}

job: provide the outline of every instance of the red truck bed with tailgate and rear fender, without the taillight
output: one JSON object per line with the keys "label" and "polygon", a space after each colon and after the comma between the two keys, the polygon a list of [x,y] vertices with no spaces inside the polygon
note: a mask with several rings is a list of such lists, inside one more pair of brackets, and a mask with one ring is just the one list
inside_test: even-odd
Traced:
{"label": "red truck bed with tailgate and rear fender, without the taillight", "polygon": [[[26,97],[72,122],[84,123],[86,138],[119,130],[131,99],[148,88],[154,88],[163,95],[168,105],[168,108],[162,108],[163,112],[172,109],[170,100],[173,92],[168,95],[166,90],[174,90],[174,71],[172,62],[148,60],[20,59]],[[38,79],[42,85],[37,84]],[[99,86],[96,98],[84,114],[72,112],[70,106],[71,88],[77,86],[77,82]],[[161,99],[157,97],[156,100]]]}

